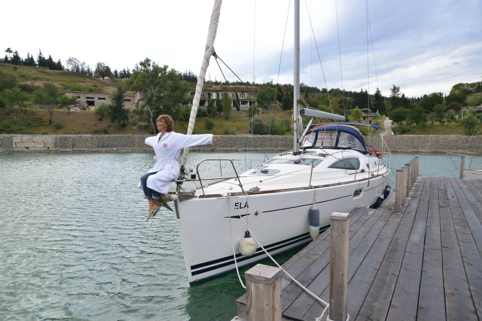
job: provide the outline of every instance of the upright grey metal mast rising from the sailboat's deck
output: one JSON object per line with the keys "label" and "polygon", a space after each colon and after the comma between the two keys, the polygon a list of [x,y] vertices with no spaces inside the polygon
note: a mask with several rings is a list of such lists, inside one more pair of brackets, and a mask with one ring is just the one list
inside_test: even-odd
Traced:
{"label": "upright grey metal mast rising from the sailboat's deck", "polygon": [[293,154],[300,152],[300,134],[298,133],[298,104],[300,101],[300,0],[295,0],[295,45],[294,45],[294,81],[293,81]]}

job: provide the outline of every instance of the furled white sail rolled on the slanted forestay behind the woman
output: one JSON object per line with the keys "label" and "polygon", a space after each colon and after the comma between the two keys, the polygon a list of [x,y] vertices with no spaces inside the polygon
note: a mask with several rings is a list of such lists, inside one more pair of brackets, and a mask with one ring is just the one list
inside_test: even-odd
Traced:
{"label": "furled white sail rolled on the slanted forestay behind the woman", "polygon": [[[204,51],[204,57],[202,58],[201,71],[197,78],[196,93],[192,101],[191,116],[189,117],[189,125],[187,127],[187,134],[191,135],[196,122],[197,109],[199,108],[199,99],[201,98],[202,87],[204,85],[204,77],[206,76],[206,70],[209,66],[209,59],[214,52],[214,40],[216,39],[217,25],[219,23],[219,14],[221,12],[222,0],[214,0],[214,6],[212,8],[211,22],[209,24],[209,31],[206,40],[206,49]],[[187,156],[189,154],[189,147],[184,148],[182,153],[181,165],[186,164]]]}

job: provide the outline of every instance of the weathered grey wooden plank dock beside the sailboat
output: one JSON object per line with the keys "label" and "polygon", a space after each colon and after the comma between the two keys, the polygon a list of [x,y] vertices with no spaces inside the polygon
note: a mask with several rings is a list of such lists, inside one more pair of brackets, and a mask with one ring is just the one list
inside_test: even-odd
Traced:
{"label": "weathered grey wooden plank dock beside the sailboat", "polygon": [[[397,213],[349,214],[350,320],[482,320],[482,180],[419,177]],[[329,229],[283,268],[329,301]],[[285,275],[283,319],[313,321],[323,306]],[[246,297],[237,300],[246,315]],[[246,319],[246,318],[245,318]]]}

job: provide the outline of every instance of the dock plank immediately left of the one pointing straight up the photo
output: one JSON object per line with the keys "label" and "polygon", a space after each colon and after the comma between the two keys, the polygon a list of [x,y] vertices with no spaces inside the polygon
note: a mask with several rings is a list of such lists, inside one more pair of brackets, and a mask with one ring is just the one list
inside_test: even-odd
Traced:
{"label": "dock plank immediately left of the one pointing straight up the photo", "polygon": [[426,179],[387,314],[387,320],[390,321],[412,321],[417,318],[429,196],[430,182]]}

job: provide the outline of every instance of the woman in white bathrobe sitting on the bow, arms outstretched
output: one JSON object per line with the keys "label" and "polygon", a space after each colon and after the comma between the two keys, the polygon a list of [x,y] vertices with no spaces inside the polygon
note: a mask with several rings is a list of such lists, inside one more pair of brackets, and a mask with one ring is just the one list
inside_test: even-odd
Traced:
{"label": "woman in white bathrobe sitting on the bow, arms outstretched", "polygon": [[212,134],[184,135],[173,132],[174,121],[169,115],[157,118],[159,134],[146,138],[146,145],[154,149],[156,164],[141,177],[144,198],[149,200],[147,219],[159,210],[161,194],[167,194],[173,179],[179,176],[177,158],[184,147],[212,144],[220,137]]}

